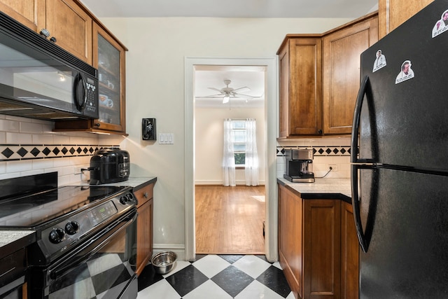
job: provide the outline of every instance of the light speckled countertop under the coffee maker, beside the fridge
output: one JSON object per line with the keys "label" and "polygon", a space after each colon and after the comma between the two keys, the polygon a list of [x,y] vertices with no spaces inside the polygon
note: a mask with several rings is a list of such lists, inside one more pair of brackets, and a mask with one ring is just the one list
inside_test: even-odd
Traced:
{"label": "light speckled countertop under the coffee maker, beside the fridge", "polygon": [[286,179],[277,178],[277,182],[288,186],[304,199],[338,197],[351,202],[350,179],[316,179],[314,183],[292,183]]}

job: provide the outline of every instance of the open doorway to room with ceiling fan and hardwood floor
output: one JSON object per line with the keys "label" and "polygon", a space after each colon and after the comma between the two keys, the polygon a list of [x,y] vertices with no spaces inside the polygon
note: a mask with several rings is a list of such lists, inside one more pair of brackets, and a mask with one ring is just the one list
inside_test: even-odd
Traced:
{"label": "open doorway to room with ceiling fan and hardwood floor", "polygon": [[[195,67],[195,225],[198,254],[264,254],[265,67]],[[226,98],[227,97],[227,98]],[[255,122],[258,186],[246,186],[246,120]],[[223,186],[223,120],[232,120],[235,183]],[[235,140],[234,140],[235,139]],[[239,141],[239,142],[238,142]],[[248,182],[252,184],[252,182]],[[255,183],[256,184],[256,183]]]}

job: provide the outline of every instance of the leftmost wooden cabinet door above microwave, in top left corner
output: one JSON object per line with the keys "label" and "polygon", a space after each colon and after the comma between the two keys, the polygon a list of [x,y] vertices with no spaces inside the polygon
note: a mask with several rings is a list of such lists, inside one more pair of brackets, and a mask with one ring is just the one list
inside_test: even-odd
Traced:
{"label": "leftmost wooden cabinet door above microwave, in top left corner", "polygon": [[35,32],[45,27],[45,0],[1,0],[0,11]]}

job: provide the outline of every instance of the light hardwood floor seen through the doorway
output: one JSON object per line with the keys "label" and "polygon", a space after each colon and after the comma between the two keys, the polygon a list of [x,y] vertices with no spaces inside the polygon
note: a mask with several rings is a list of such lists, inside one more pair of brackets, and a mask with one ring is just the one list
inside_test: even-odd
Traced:
{"label": "light hardwood floor seen through the doorway", "polygon": [[265,186],[195,186],[196,253],[264,254]]}

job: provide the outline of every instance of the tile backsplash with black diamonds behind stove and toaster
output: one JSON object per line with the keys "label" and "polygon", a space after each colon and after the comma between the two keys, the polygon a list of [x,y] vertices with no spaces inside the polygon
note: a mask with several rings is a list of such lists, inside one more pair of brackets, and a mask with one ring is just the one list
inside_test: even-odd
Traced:
{"label": "tile backsplash with black diamonds behind stove and toaster", "polygon": [[0,114],[0,179],[58,173],[58,185],[89,179],[94,151],[117,146],[121,136],[85,132],[52,132],[54,123]]}

